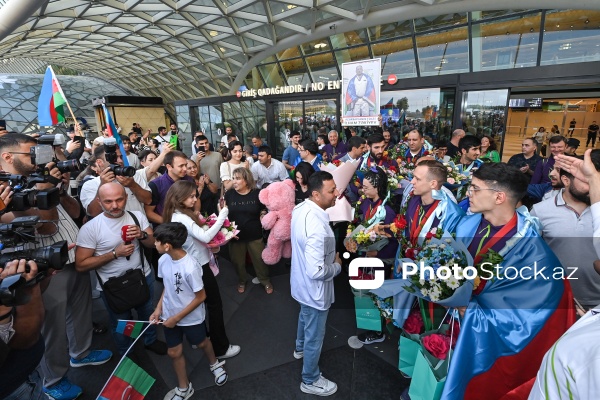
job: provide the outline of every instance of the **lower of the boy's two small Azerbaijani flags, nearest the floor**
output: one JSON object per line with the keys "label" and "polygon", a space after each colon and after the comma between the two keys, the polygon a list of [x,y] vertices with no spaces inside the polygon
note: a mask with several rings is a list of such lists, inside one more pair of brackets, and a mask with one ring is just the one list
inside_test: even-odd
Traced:
{"label": "lower of the boy's two small Azerbaijani flags, nearest the floor", "polygon": [[142,400],[156,379],[148,375],[129,358],[123,358],[119,367],[98,396],[100,400]]}

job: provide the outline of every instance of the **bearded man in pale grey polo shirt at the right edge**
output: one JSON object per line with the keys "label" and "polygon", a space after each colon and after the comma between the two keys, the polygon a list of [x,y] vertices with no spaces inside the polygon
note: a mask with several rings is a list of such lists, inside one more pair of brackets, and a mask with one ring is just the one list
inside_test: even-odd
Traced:
{"label": "bearded man in pale grey polo shirt at the right edge", "polygon": [[[596,170],[600,170],[600,151],[592,151],[591,158]],[[565,269],[575,271],[570,280],[573,295],[587,310],[600,304],[600,276],[593,268],[598,256],[594,249],[590,187],[562,169],[560,180],[564,189],[556,197],[534,205],[531,215],[540,219],[544,240]]]}

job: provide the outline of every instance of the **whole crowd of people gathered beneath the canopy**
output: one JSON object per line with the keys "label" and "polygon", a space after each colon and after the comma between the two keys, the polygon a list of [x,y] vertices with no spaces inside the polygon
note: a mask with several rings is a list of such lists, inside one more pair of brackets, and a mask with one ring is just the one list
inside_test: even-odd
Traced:
{"label": "whole crowd of people gathered beneath the canopy", "polygon": [[[279,161],[264,138],[253,137],[252,145],[245,145],[231,128],[219,149],[196,132],[188,157],[180,143],[171,140],[179,134],[176,124],[170,131],[160,127],[155,138],[135,124],[128,136],[121,137],[125,154],[112,144],[108,131],[93,144],[77,140],[73,132],[65,149],[53,146],[54,161],[45,165],[31,157],[31,149],[38,146],[35,138],[18,133],[0,136],[3,173],[27,178],[42,170],[52,179],[36,181],[35,188],[56,189],[59,199],[52,207],[11,209],[18,189],[10,180],[0,180],[2,222],[38,216],[39,246],[59,240],[76,245],[69,250],[66,265],[40,284],[33,280],[37,265],[32,261],[1,266],[1,278],[22,274],[33,283],[24,289],[29,302],[0,305],[0,397],[20,399],[29,392],[30,398],[45,394],[59,400],[82,393],[66,378],[68,369],[101,365],[113,357],[110,350],[91,348],[94,332],[102,331],[92,321],[96,290],[108,312],[119,355],[131,345],[117,329],[119,320],[131,320],[135,310],[137,319],[151,322],[144,346],[168,354],[177,375],[177,386],[165,399],[188,399],[194,393],[185,368],[183,336],[204,351],[215,384],[225,384],[224,360],[241,348],[227,337],[220,289],[210,267],[218,259],[218,249],[209,243],[224,224],[235,221],[239,233],[228,243],[228,254],[237,273],[237,292],[246,291],[249,259],[256,273],[253,282],[272,294],[262,259],[261,220],[269,210],[259,193],[292,179],[296,207],[290,227],[290,283],[291,295],[300,305],[293,355],[303,362],[302,392],[328,396],[337,391],[337,385],[321,373],[319,358],[335,299],[333,280],[348,263],[340,258],[346,251],[344,239],[350,234],[349,224],[362,224],[390,239],[378,250],[357,249],[352,257],[380,259],[389,280],[395,277],[399,260],[415,259],[430,233],[438,231],[463,242],[475,263],[493,251],[502,255],[503,265],[537,262],[573,271],[569,280],[531,279],[533,274],[516,282],[482,280],[459,310],[461,333],[443,398],[481,398],[482,391],[490,399],[508,393],[523,398],[532,388],[532,398],[543,398],[549,379],[557,381],[552,387],[556,393],[581,390],[579,398],[586,398],[583,393],[591,389],[582,387],[583,379],[565,372],[575,371],[564,350],[567,345],[559,347],[564,365],[560,376],[566,387],[556,374],[551,378],[543,371],[548,363],[554,370],[555,355],[544,358],[544,354],[556,350],[559,345],[554,343],[574,322],[573,296],[582,314],[600,304],[600,275],[594,269],[600,258],[594,239],[599,229],[594,206],[600,201],[596,193],[600,183],[594,183],[600,179],[596,172],[600,153],[588,152],[584,161],[575,155],[574,143],[555,135],[548,141],[549,156],[542,158],[534,136],[523,140],[522,153],[502,163],[493,137],[478,138],[461,129],[452,132],[449,141],[437,143],[418,130],[406,132],[399,143],[387,130],[366,138],[355,133],[350,130],[341,137],[332,129],[319,144],[291,131]],[[85,160],[87,167],[71,179],[74,172],[56,168],[62,160]],[[356,173],[347,187],[336,187],[333,176],[321,169],[324,163],[346,162],[357,165]],[[458,176],[462,181],[456,183]],[[353,221],[330,221],[326,210],[341,196],[356,206]],[[204,218],[211,214],[216,218],[205,227]],[[137,301],[123,300],[125,306],[119,307],[109,283],[132,270],[137,270],[148,293]],[[160,295],[154,292],[160,287],[157,279],[164,287]],[[571,328],[570,337],[591,329],[591,318],[586,315]],[[166,342],[158,339],[159,322]],[[383,331],[366,331],[358,339],[369,345],[386,336]],[[473,348],[485,351],[474,354]],[[16,360],[20,368],[11,367]],[[577,374],[585,375],[583,367],[577,366]],[[402,396],[409,398],[408,393]]]}

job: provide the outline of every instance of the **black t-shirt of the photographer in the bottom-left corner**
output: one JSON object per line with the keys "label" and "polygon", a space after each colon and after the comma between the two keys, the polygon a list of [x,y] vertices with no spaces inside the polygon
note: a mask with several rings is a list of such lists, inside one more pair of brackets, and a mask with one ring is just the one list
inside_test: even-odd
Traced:
{"label": "black t-shirt of the photographer in the bottom-left corner", "polygon": [[7,397],[23,384],[38,366],[44,355],[44,338],[28,349],[11,349],[8,357],[0,366],[0,399]]}

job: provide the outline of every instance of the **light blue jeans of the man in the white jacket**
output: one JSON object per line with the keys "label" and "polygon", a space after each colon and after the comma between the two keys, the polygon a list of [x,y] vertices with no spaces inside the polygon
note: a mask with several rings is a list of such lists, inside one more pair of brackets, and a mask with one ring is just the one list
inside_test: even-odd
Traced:
{"label": "light blue jeans of the man in the white jacket", "polygon": [[319,370],[319,357],[323,348],[325,328],[327,326],[329,310],[300,304],[298,315],[298,332],[296,334],[296,351],[303,351],[302,382],[310,385],[316,382],[321,375]]}

